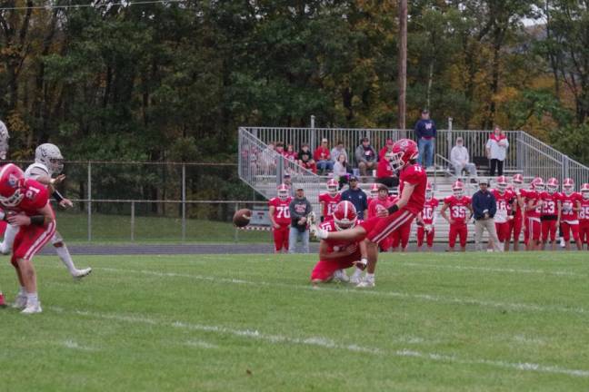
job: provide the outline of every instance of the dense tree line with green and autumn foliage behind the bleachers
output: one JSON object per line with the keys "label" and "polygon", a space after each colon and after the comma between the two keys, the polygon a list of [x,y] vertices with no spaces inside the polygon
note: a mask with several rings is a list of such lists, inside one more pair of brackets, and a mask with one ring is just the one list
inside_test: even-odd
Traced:
{"label": "dense tree line with green and autumn foliage behind the bleachers", "polygon": [[[239,125],[397,123],[395,1],[0,1],[11,158],[235,162]],[[131,3],[132,4],[132,3]],[[532,132],[589,162],[589,4],[409,2],[407,120]]]}

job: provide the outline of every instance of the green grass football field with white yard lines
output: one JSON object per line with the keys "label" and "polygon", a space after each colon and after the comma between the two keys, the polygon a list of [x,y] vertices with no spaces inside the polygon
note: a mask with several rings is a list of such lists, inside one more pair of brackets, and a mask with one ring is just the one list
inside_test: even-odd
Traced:
{"label": "green grass football field with white yard lines", "polygon": [[587,255],[387,254],[364,290],[311,289],[313,255],[39,257],[0,391],[586,391]]}

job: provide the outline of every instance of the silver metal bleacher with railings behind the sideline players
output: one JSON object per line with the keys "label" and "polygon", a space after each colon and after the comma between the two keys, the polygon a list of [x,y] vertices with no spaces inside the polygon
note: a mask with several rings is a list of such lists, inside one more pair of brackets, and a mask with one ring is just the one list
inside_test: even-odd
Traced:
{"label": "silver metal bleacher with railings behind the sideline players", "polygon": [[[343,142],[348,157],[354,156],[354,149],[364,136],[370,138],[377,151],[384,146],[387,139],[412,138],[413,131],[394,129],[339,129],[339,128],[275,128],[275,127],[240,127],[239,128],[239,162],[238,170],[242,181],[245,181],[255,191],[266,199],[275,197],[276,186],[282,181],[285,173],[291,175],[293,188],[302,185],[305,196],[313,204],[314,211],[318,211],[319,194],[325,191],[328,177],[318,176],[307,171],[295,162],[285,159],[268,147],[270,142],[284,142],[293,144],[295,149],[308,142],[311,150],[318,145],[318,141],[326,138],[330,144]],[[456,180],[454,172],[449,168],[447,157],[458,136],[464,139],[464,146],[471,157],[484,156],[484,144],[489,131],[454,131],[438,130],[435,143],[434,168],[427,171],[429,181],[434,186],[434,197],[443,201],[452,194],[452,183]],[[549,145],[535,139],[522,131],[505,132],[510,143],[504,162],[504,173],[513,175],[522,173],[524,179],[539,176],[544,179],[555,177],[563,181],[566,177],[574,179],[577,186],[589,182],[589,168],[568,158],[562,152],[554,150]],[[486,173],[479,173],[483,175]],[[471,195],[478,189],[476,183],[464,179],[465,193]],[[361,179],[361,187],[368,193],[374,178]],[[442,203],[441,203],[442,204]],[[439,213],[439,208],[437,210]],[[448,223],[438,216],[435,225],[435,240],[447,241]],[[415,230],[412,230],[411,240],[414,241]],[[474,240],[474,225],[469,224],[469,240]]]}

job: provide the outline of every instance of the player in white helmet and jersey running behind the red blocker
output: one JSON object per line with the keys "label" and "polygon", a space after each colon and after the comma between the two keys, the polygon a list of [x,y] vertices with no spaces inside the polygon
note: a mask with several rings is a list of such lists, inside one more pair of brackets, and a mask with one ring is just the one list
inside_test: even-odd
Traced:
{"label": "player in white helmet and jersey running behind the red blocker", "polygon": [[[61,174],[64,169],[64,157],[62,156],[59,148],[55,144],[45,143],[38,146],[35,150],[35,163],[29,165],[25,171],[25,178],[35,180],[47,187],[49,194],[53,195],[55,201],[59,202],[59,205],[63,208],[72,207],[72,201],[66,199],[58,191],[55,191],[55,185],[65,180],[65,175]],[[52,176],[57,177],[52,178]],[[0,244],[0,251],[3,254],[8,254],[13,248],[13,242],[15,240],[16,232],[18,228],[12,225],[8,225],[5,232],[5,238]],[[53,238],[51,239],[57,256],[62,260],[65,267],[72,275],[74,279],[82,279],[92,272],[91,268],[78,270],[75,268],[74,260],[70,255],[67,246],[65,245],[62,236],[55,231]]]}

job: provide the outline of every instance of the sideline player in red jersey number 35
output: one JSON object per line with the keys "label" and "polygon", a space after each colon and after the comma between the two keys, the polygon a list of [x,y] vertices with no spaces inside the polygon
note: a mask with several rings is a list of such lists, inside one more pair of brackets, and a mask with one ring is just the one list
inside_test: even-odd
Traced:
{"label": "sideline player in red jersey number 35", "polygon": [[[460,250],[466,251],[466,240],[468,240],[466,222],[473,216],[473,206],[471,205],[471,198],[464,196],[464,183],[462,181],[454,181],[452,191],[454,194],[444,199],[444,205],[440,210],[442,218],[450,224],[448,251],[454,251],[457,236],[460,236]],[[450,218],[445,213],[448,209],[450,209]]]}

